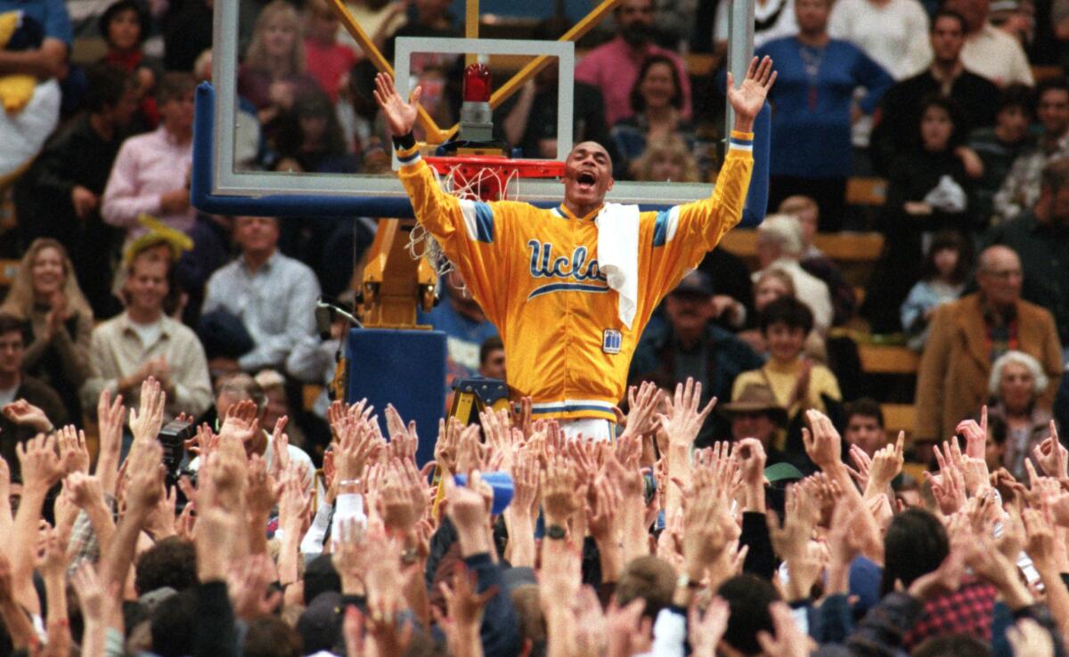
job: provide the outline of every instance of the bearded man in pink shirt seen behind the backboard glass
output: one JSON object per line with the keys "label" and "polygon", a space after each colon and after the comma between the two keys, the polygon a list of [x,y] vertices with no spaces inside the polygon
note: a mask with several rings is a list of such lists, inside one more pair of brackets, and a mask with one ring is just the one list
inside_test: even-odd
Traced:
{"label": "bearded man in pink shirt seen behind the backboard glass", "polygon": [[575,79],[592,84],[605,97],[605,120],[614,125],[634,113],[631,89],[638,80],[642,62],[651,54],[664,54],[679,68],[683,87],[683,119],[691,118],[691,79],[683,61],[670,50],[652,43],[653,0],[622,0],[616,9],[619,34],[584,57],[575,66]]}

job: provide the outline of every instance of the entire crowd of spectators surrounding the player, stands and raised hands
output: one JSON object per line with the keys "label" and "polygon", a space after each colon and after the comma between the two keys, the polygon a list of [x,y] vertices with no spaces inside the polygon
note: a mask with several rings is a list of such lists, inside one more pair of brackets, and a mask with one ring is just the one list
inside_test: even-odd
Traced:
{"label": "entire crowd of spectators surrounding the player, stands and raised hands", "polygon": [[[448,7],[350,6],[388,59],[460,35]],[[721,61],[727,10],[621,0],[583,44],[574,138],[616,177],[715,179],[724,78],[681,53]],[[374,67],[327,3],[241,11],[238,166],[388,174]],[[306,410],[342,330],[321,339],[315,300],[352,288],[375,223],[190,206],[212,1],[0,0],[0,160],[25,155],[0,172],[21,259],[0,304],[0,654],[1065,655],[1069,82],[1033,66],[1062,65],[1069,3],[756,12],[779,76],[758,267],[718,248],[683,279],[621,434],[592,444],[522,412],[417,438],[392,408]],[[100,61],[71,63],[97,29]],[[414,62],[439,125],[461,65]],[[526,157],[556,155],[557,85],[549,66],[496,111]],[[874,226],[845,203],[863,175],[888,181]],[[815,237],[871,228],[858,303]],[[463,280],[441,287],[420,320],[450,377],[506,378]],[[863,396],[858,320],[920,354],[908,443]],[[159,465],[172,419],[199,427],[181,471]],[[415,460],[435,435],[440,490]]]}

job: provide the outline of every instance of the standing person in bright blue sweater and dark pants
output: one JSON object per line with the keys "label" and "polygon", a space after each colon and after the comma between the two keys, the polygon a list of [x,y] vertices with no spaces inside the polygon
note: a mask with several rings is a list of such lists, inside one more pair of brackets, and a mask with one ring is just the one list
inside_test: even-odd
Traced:
{"label": "standing person in bright blue sweater and dark pants", "polygon": [[[758,49],[776,62],[779,77],[772,104],[770,202],[804,193],[820,205],[820,230],[842,225],[850,176],[850,126],[870,114],[894,79],[861,48],[827,35],[830,0],[794,3],[799,33]],[[866,90],[859,103],[854,91]]]}

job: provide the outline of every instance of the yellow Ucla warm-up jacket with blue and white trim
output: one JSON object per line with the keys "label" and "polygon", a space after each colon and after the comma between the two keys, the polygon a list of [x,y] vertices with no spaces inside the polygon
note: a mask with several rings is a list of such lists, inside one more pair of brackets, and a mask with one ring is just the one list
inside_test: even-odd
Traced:
{"label": "yellow Ucla warm-up jacket with blue and white trim", "polygon": [[615,421],[628,367],[661,299],[739,223],[753,134],[732,132],[713,194],[639,215],[638,299],[629,329],[598,268],[598,210],[463,201],[438,186],[418,147],[398,150],[416,218],[438,240],[505,343],[508,384],[538,418]]}

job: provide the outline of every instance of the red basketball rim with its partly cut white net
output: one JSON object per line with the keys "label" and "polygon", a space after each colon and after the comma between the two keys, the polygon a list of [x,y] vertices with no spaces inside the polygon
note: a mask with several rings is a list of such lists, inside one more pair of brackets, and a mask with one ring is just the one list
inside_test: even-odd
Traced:
{"label": "red basketball rim with its partly cut white net", "polygon": [[[520,194],[523,178],[554,178],[564,175],[564,162],[552,159],[511,159],[489,155],[428,156],[443,191],[467,201],[508,201]],[[408,238],[408,253],[427,260],[439,277],[452,269],[441,247],[417,223]]]}

